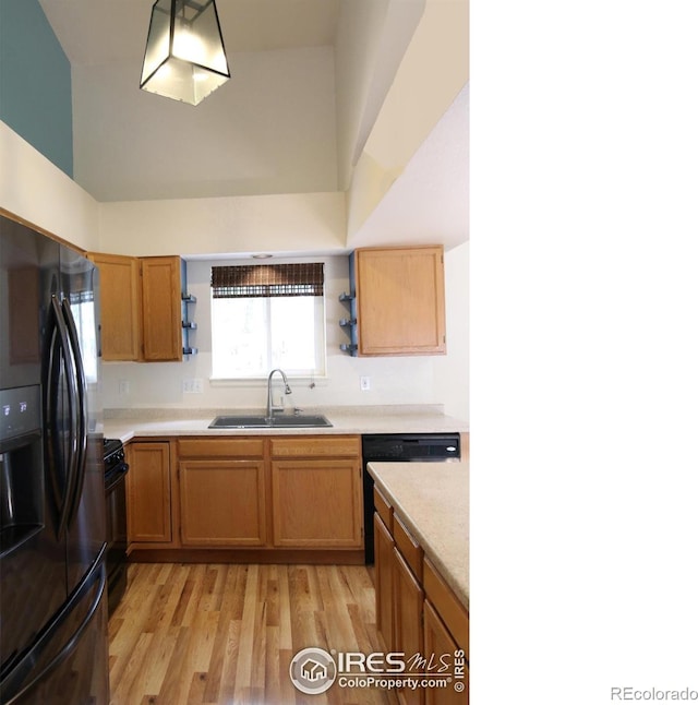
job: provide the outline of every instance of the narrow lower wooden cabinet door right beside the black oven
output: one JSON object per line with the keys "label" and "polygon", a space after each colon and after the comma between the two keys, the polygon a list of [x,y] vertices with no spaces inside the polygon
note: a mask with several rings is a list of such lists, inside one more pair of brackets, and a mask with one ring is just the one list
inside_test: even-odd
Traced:
{"label": "narrow lower wooden cabinet door right beside the black oven", "polygon": [[127,515],[129,542],[172,540],[169,443],[127,446]]}

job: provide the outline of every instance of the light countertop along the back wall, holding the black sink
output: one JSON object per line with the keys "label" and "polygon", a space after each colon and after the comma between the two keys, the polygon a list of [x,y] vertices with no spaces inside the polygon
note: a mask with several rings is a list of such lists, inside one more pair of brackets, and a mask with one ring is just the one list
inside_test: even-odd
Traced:
{"label": "light countertop along the back wall, holding the black sink", "polygon": [[[240,413],[234,409],[233,413]],[[256,413],[264,411],[256,409]],[[105,438],[122,442],[135,437],[163,435],[317,435],[345,433],[444,433],[465,432],[467,423],[445,416],[438,406],[333,407],[303,414],[323,414],[332,427],[209,429],[218,415],[231,409],[113,409],[105,413]]]}

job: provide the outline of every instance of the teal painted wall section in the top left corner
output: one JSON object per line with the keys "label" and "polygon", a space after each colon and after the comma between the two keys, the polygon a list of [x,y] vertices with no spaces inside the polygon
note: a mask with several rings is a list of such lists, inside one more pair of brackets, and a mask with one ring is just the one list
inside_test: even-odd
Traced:
{"label": "teal painted wall section in the top left corner", "polygon": [[72,178],[70,61],[38,0],[0,0],[0,120]]}

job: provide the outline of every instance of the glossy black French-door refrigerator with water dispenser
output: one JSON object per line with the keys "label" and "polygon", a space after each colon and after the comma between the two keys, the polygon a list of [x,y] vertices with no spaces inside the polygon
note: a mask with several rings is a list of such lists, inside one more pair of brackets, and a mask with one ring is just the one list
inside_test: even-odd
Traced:
{"label": "glossy black French-door refrigerator with water dispenser", "polygon": [[0,703],[109,702],[98,271],[0,215]]}

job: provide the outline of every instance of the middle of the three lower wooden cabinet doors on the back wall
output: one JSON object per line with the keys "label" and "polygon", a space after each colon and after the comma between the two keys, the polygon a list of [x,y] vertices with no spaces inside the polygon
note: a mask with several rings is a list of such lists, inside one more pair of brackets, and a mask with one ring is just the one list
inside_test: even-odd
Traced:
{"label": "middle of the three lower wooden cabinet doors on the back wall", "polygon": [[264,461],[182,461],[179,478],[183,546],[265,545]]}

